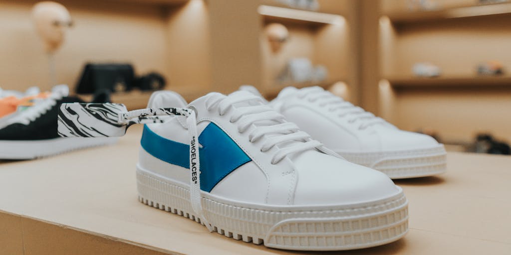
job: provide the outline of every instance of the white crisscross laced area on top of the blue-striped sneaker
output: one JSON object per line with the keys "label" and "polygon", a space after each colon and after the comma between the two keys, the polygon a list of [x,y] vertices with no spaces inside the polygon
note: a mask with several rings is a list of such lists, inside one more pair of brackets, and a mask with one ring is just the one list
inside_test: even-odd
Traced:
{"label": "white crisscross laced area on top of the blue-striped sneaker", "polygon": [[261,97],[247,92],[235,92],[230,96],[211,94],[205,104],[208,111],[217,108],[221,116],[229,110],[232,111],[229,120],[237,124],[240,133],[245,133],[249,127],[254,126],[248,134],[250,142],[268,138],[262,144],[261,152],[277,146],[271,164],[277,164],[288,155],[323,146],[307,133],[300,131],[296,124],[287,122],[282,114],[264,105]]}

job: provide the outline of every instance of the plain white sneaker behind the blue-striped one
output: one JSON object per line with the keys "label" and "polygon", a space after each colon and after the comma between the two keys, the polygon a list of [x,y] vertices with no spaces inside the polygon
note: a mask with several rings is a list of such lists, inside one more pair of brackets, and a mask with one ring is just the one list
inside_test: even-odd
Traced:
{"label": "plain white sneaker behind the blue-striped one", "polygon": [[446,151],[432,137],[399,130],[320,87],[287,87],[270,105],[345,159],[392,179],[446,171]]}

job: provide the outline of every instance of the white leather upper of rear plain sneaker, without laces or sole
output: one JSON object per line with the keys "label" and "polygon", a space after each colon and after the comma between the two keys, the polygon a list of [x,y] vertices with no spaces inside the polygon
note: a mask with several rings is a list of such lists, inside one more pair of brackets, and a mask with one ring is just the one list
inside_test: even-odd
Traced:
{"label": "white leather upper of rear plain sneaker, without laces or sole", "polygon": [[379,152],[432,148],[439,144],[430,136],[397,129],[389,123],[363,126],[350,115],[339,117],[319,101],[299,96],[297,89],[283,90],[270,105],[332,150],[342,152]]}

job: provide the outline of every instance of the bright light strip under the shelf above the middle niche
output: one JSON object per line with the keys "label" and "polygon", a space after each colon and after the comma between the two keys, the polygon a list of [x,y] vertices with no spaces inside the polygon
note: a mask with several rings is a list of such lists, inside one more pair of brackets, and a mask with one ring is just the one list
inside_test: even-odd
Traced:
{"label": "bright light strip under the shelf above the middle niche", "polygon": [[267,5],[259,6],[258,12],[259,14],[266,16],[306,20],[326,24],[343,24],[345,22],[344,17],[341,15],[296,10]]}

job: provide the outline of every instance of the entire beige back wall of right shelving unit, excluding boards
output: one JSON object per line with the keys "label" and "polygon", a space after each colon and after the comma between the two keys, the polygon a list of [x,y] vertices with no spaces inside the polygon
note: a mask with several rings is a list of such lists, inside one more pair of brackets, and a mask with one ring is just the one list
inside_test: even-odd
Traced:
{"label": "entire beige back wall of right shelving unit, excluding boards", "polygon": [[[406,13],[405,2],[386,0],[381,10]],[[475,5],[465,0],[436,2],[446,8]],[[431,129],[447,142],[470,142],[479,132],[491,132],[511,141],[511,120],[504,117],[511,112],[511,89],[506,84],[442,84],[443,78],[474,78],[476,65],[490,60],[499,60],[508,72],[511,17],[443,19],[438,15],[432,20],[413,20],[410,16],[396,25],[382,18],[379,34],[380,60],[375,61],[379,62],[380,78],[409,79],[413,83],[411,68],[417,62],[430,62],[442,69],[435,87],[392,89],[383,83],[378,98],[379,113],[384,118],[410,131]]]}

